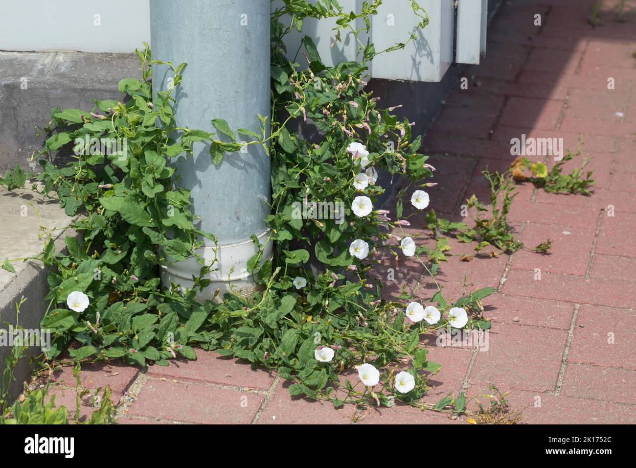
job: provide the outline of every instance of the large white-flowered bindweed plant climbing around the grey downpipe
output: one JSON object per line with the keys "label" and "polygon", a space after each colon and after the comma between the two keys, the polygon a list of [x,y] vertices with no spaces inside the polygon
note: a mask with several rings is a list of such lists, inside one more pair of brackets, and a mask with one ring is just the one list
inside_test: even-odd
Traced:
{"label": "large white-flowered bindweed plant climbing around the grey downpipe", "polygon": [[[494,288],[455,301],[439,287],[431,297],[387,300],[382,281],[372,274],[383,250],[418,259],[424,253],[410,237],[391,234],[408,222],[401,198],[394,216],[378,208],[385,192],[378,172],[408,180],[401,193],[410,194],[421,210],[429,204],[421,188],[430,184],[425,180],[432,167],[418,152],[421,138],[411,134],[412,123],[398,120],[396,106],[382,108],[364,90],[369,60],[416,36],[382,52],[359,42],[360,61],[336,66],[326,66],[305,37],[298,60],[286,58],[283,38],[291,29],[301,31],[305,18],[335,18],[336,41],[340,30],[357,38],[361,30],[353,28],[354,20],[362,18],[368,30],[369,15],[380,3],[364,2],[356,14],[335,0],[294,0],[272,13],[272,115],[259,116],[260,132],[230,129],[221,117],[212,120],[216,134],[178,127],[172,108],[185,64],[152,59],[148,46],[137,50],[141,80],[120,82],[120,91],[130,97],[125,103],[52,110],[43,129],[45,145],[36,155],[43,172],[35,189],[58,197],[67,215],[82,216],[71,223],[80,236],[66,238],[66,252],[55,252],[49,237],[36,257],[50,268],[50,306],[42,322],[55,335],[48,357],[58,357],[75,340],[79,346],[69,350],[75,361],[122,358],[128,364],[168,365],[177,353],[195,358],[192,346],[200,346],[278,369],[293,381],[291,394],[335,406],[392,406],[397,399],[435,411],[466,411],[464,394],[425,401],[429,379],[440,366],[427,359],[422,335],[487,329],[481,301]],[[425,11],[415,1],[408,4],[425,27]],[[167,64],[174,83],[156,91],[154,101],[153,64]],[[302,136],[310,133],[311,138]],[[249,141],[239,142],[236,134]],[[242,145],[261,145],[271,158],[266,222],[274,255],[263,259],[263,245],[252,236],[260,250],[249,266],[261,289],[251,298],[226,293],[210,298],[216,301],[197,299],[217,268],[216,262],[205,264],[197,249],[202,238],[215,238],[195,227],[190,191],[179,187],[170,164],[177,155],[191,154],[195,141],[209,143],[214,164],[223,164],[224,154]],[[73,147],[74,157],[57,167],[52,154],[64,145]],[[319,203],[343,206],[341,216],[315,218],[310,213]],[[392,244],[396,241],[399,246]],[[195,288],[162,288],[160,267],[191,257],[201,266]],[[434,279],[438,266],[428,253],[424,260],[420,264]]]}

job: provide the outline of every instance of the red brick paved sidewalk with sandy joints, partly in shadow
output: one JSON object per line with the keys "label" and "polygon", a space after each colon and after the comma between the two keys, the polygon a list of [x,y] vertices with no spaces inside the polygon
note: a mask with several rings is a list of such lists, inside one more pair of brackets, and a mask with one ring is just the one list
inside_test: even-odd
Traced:
{"label": "red brick paved sidewalk with sandy joints, partly in shadow", "polygon": [[[461,294],[464,275],[471,288],[497,287],[484,301],[494,323],[487,351],[431,346],[429,357],[443,367],[426,401],[485,393],[492,382],[510,392],[513,409],[525,408],[527,423],[636,423],[636,1],[626,1],[634,10],[619,23],[609,10],[618,1],[605,0],[605,25],[595,29],[590,3],[505,2],[488,31],[488,57],[466,69],[468,89],[457,83],[425,138],[438,169],[430,208],[449,217],[459,218],[473,193],[486,200],[481,171],[505,170],[515,159],[509,141],[522,134],[563,138],[572,150],[583,134],[595,169],[591,197],[518,185],[509,220],[529,246],[552,239],[550,255],[461,262],[473,246],[451,242],[452,257],[439,268],[446,297]],[[411,223],[408,232],[421,227]],[[429,299],[433,289],[419,278],[419,269],[403,268],[392,288],[407,283]],[[86,365],[83,384],[113,388],[120,423],[466,423],[405,406],[336,410],[290,397],[282,379],[238,360],[197,356],[147,371]],[[71,370],[55,381],[57,402],[73,406]]]}

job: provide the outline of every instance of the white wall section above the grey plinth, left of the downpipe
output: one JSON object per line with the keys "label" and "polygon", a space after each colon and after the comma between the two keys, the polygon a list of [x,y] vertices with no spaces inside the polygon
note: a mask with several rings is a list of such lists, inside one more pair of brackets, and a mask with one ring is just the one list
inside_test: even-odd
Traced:
{"label": "white wall section above the grey plinth, left of the downpipe", "polygon": [[148,0],[0,3],[0,50],[134,52],[142,41],[150,42]]}

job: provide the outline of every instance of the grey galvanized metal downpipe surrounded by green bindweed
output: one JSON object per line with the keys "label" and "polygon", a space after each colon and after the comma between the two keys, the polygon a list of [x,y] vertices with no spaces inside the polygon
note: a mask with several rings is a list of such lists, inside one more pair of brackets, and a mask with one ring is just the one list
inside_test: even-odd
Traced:
{"label": "grey galvanized metal downpipe surrounded by green bindweed", "polygon": [[[216,132],[212,118],[224,118],[234,130],[258,132],[258,114],[270,115],[270,1],[151,0],[150,24],[153,58],[188,64],[176,88],[177,125]],[[170,67],[153,65],[153,89],[167,89],[171,76]],[[244,297],[255,289],[247,260],[258,250],[249,237],[265,243],[268,235],[270,159],[260,145],[245,149],[226,153],[214,166],[209,145],[197,142],[193,159],[181,155],[174,162],[179,186],[191,190],[200,229],[218,238],[218,249],[206,240],[200,250],[208,264],[216,257],[212,269],[220,269],[200,299],[212,299],[216,288],[223,297],[228,277]],[[271,255],[268,243],[264,258]],[[162,283],[191,288],[199,271],[195,259],[176,262],[163,268]]]}

